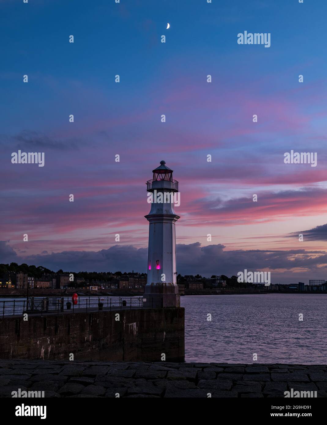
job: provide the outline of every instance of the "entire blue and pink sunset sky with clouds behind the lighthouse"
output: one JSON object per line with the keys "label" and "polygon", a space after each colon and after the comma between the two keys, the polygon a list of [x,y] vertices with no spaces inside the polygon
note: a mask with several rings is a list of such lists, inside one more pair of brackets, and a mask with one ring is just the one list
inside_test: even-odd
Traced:
{"label": "entire blue and pink sunset sky with clouds behind the lighthouse", "polygon": [[[146,272],[145,182],[165,160],[178,273],[327,279],[326,12],[324,0],[0,0],[0,263]],[[270,47],[238,44],[244,31],[270,33]],[[18,150],[44,152],[44,167],[12,164]],[[285,164],[291,150],[317,153],[316,167]]]}

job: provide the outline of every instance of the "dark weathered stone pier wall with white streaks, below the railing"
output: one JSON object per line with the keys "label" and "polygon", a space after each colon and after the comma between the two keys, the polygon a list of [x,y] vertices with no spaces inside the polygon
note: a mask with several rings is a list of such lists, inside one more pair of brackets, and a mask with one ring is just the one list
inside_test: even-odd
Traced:
{"label": "dark weathered stone pier wall with white streaks, below the railing", "polygon": [[183,308],[4,317],[0,329],[2,359],[184,360]]}

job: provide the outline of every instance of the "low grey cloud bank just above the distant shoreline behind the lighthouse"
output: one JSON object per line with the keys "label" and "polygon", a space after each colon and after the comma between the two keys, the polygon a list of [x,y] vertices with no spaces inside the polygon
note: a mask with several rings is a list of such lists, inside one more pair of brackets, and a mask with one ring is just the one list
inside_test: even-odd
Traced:
{"label": "low grey cloud bank just above the distant shoreline behind the lighthouse", "polygon": [[[272,283],[305,282],[309,279],[326,278],[327,252],[306,251],[305,249],[288,251],[233,250],[226,251],[222,244],[201,246],[177,244],[177,272],[182,275],[202,276],[237,275],[244,269],[271,271]],[[135,248],[132,245],[115,245],[100,251],[63,251],[48,254],[22,256],[17,255],[6,241],[0,242],[0,263],[34,264],[57,271],[134,271],[146,272],[148,249]],[[295,268],[301,270],[294,271]],[[279,269],[283,269],[282,271]]]}

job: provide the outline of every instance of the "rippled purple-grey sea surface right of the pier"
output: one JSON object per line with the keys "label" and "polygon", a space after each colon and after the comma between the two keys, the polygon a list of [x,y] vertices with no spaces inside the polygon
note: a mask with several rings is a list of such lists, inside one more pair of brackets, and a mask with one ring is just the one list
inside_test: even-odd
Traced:
{"label": "rippled purple-grey sea surface right of the pier", "polygon": [[186,362],[327,363],[327,294],[187,295],[181,306]]}

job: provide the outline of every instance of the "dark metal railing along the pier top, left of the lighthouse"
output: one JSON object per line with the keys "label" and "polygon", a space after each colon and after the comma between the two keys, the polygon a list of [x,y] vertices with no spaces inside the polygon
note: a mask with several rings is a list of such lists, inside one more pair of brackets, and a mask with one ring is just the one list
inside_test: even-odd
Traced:
{"label": "dark metal railing along the pier top, left of the lighthouse", "polygon": [[60,314],[122,309],[162,307],[162,298],[144,297],[78,297],[74,304],[70,296],[30,297],[28,300],[0,300],[0,317],[27,314]]}

